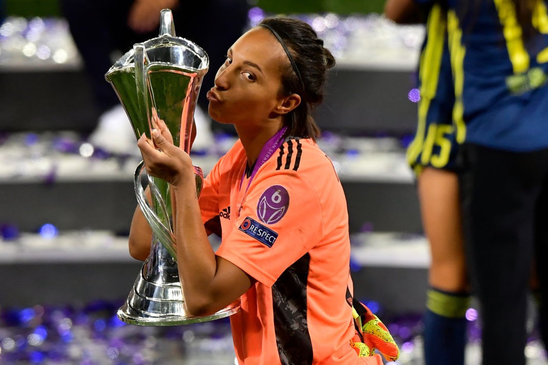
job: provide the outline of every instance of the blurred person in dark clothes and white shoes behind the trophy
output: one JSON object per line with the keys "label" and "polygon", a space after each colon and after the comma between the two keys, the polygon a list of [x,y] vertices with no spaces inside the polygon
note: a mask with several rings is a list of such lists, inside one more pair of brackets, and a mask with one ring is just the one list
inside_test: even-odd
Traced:
{"label": "blurred person in dark clothes and white shoes behind the trophy", "polygon": [[[0,0],[1,1],[1,0]],[[140,155],[135,135],[105,73],[135,43],[158,37],[160,12],[170,9],[175,34],[192,40],[209,56],[210,65],[220,65],[226,50],[249,26],[248,0],[60,0],[62,15],[70,26],[89,76],[98,114],[98,125],[89,142],[115,154]],[[209,71],[202,87],[213,86]],[[208,101],[198,97],[195,120],[198,133],[195,148],[207,148],[212,141]]]}

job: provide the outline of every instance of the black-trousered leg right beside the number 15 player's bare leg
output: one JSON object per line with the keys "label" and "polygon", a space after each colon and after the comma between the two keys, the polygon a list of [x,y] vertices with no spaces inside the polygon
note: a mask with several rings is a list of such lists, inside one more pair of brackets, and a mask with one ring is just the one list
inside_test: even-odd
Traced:
{"label": "black-trousered leg right beside the number 15 player's bare leg", "polygon": [[527,153],[465,144],[459,154],[466,264],[480,305],[483,365],[524,365],[539,173]]}

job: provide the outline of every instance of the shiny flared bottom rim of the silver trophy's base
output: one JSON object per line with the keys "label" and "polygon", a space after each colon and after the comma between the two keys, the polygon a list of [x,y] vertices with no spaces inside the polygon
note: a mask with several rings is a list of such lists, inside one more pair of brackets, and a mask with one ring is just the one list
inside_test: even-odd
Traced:
{"label": "shiny flared bottom rim of the silver trophy's base", "polygon": [[195,317],[195,316],[151,316],[143,312],[136,311],[128,303],[125,303],[118,309],[117,315],[122,322],[128,323],[128,325],[136,326],[179,326],[179,325],[191,325],[192,323],[209,322],[219,320],[220,318],[229,317],[239,311],[239,303],[231,304],[225,309],[222,309],[212,315]]}

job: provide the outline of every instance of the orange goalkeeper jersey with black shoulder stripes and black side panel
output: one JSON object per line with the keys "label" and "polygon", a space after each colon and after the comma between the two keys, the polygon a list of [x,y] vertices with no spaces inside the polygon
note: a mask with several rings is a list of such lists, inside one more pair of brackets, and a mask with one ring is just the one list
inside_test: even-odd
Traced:
{"label": "orange goalkeeper jersey with black shoulder stripes and black side panel", "polygon": [[240,141],[213,167],[199,202],[219,256],[256,283],[230,317],[240,364],[356,364],[343,188],[310,139],[265,144],[247,174]]}

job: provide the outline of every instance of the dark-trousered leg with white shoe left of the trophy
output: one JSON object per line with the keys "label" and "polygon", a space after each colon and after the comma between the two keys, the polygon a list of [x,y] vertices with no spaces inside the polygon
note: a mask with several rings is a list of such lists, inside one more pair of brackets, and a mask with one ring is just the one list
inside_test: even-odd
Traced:
{"label": "dark-trousered leg with white shoe left of the trophy", "polygon": [[136,34],[129,28],[132,3],[133,0],[61,0],[60,5],[95,97],[98,121],[88,141],[109,153],[140,156],[128,117],[105,80],[105,73],[118,56],[132,49],[134,43],[158,36],[158,32]]}

